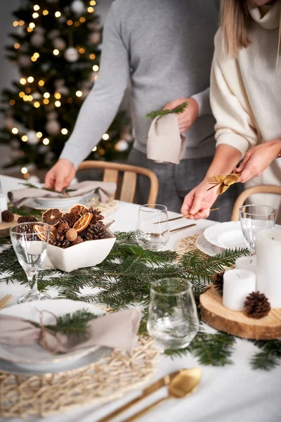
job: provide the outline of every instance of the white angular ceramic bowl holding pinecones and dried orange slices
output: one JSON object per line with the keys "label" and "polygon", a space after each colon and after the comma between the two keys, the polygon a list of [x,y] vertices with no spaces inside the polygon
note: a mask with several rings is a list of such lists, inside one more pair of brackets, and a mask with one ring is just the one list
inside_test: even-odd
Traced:
{"label": "white angular ceramic bowl holding pinecones and dried orange slices", "polygon": [[115,235],[110,231],[114,220],[103,220],[103,222],[107,227],[104,239],[85,241],[65,249],[48,245],[44,268],[70,272],[81,267],[93,267],[103,262],[116,241]]}

